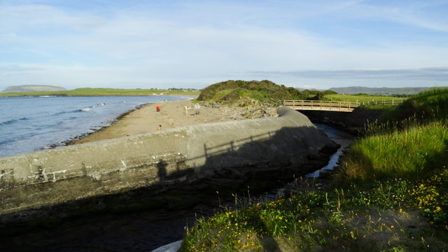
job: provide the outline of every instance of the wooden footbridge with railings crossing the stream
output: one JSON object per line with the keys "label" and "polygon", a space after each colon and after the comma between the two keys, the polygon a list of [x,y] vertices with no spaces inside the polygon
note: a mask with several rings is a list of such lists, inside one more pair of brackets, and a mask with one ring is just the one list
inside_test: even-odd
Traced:
{"label": "wooden footbridge with railings crossing the stream", "polygon": [[285,100],[283,106],[295,110],[340,111],[351,112],[359,106],[359,102],[332,102],[311,100]]}

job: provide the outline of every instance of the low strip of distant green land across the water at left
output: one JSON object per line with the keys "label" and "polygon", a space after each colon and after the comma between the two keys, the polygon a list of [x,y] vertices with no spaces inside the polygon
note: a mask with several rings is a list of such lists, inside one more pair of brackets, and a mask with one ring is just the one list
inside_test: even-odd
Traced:
{"label": "low strip of distant green land across the water at left", "polygon": [[23,96],[147,96],[147,95],[188,95],[198,96],[199,91],[186,90],[160,90],[160,89],[116,89],[116,88],[78,88],[75,90],[48,91],[48,92],[5,92],[0,97],[23,97]]}

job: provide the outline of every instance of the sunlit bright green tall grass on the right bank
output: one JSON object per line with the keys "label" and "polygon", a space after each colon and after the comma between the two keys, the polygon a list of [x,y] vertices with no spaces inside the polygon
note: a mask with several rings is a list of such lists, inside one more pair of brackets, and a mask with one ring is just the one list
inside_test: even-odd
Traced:
{"label": "sunlit bright green tall grass on the right bank", "polygon": [[404,130],[383,129],[356,141],[346,153],[346,179],[421,176],[448,160],[448,127],[434,122]]}

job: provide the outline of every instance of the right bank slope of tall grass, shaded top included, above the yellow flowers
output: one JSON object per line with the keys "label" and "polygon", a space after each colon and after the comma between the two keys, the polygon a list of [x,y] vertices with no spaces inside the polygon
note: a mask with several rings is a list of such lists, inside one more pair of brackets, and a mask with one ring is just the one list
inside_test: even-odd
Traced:
{"label": "right bank slope of tall grass, shaded top included, above the yellow flowers", "polygon": [[422,176],[448,160],[448,89],[421,92],[368,125],[342,160],[349,180]]}

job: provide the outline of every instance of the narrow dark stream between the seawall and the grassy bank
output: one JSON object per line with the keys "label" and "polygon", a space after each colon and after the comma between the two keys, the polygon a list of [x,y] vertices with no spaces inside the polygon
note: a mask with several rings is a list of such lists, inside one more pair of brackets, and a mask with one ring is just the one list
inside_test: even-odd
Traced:
{"label": "narrow dark stream between the seawall and the grassy bank", "polygon": [[[328,165],[307,175],[311,178],[337,166],[342,151],[355,139],[352,134],[328,125],[315,125],[341,147],[330,157]],[[183,239],[185,227],[193,226],[200,216],[213,216],[218,209],[216,201],[204,200],[193,209],[182,211],[108,213],[40,225],[18,235],[0,237],[0,251],[152,251]]]}

